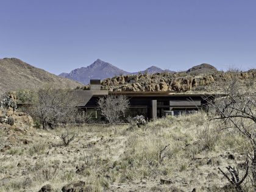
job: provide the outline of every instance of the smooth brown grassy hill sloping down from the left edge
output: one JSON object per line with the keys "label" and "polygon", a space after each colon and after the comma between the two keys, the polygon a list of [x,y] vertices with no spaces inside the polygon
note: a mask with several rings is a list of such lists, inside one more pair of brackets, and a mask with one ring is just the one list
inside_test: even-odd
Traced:
{"label": "smooth brown grassy hill sloping down from the left edge", "polygon": [[55,76],[16,58],[0,59],[0,93],[50,84],[57,88],[76,88],[78,82]]}

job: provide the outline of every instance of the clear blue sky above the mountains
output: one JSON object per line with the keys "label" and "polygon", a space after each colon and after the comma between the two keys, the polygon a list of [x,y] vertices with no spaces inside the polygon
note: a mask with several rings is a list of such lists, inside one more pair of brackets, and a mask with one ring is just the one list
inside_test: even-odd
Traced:
{"label": "clear blue sky above the mountains", "polygon": [[255,10],[255,0],[0,0],[0,58],[55,74],[98,58],[126,71],[255,68]]}

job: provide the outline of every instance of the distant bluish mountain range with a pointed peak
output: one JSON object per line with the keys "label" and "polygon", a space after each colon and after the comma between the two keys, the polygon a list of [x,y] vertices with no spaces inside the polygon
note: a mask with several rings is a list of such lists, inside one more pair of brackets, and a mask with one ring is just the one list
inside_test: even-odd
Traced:
{"label": "distant bluish mountain range with a pointed peak", "polygon": [[111,78],[114,76],[119,76],[120,74],[126,75],[126,74],[138,74],[138,73],[163,73],[165,71],[168,71],[169,73],[174,73],[174,71],[169,70],[163,70],[161,68],[158,68],[157,66],[151,66],[150,68],[140,71],[140,72],[134,72],[130,73],[127,71],[124,71],[123,69],[119,69],[116,66],[104,62],[100,59],[97,59],[93,64],[87,66],[87,67],[81,67],[74,69],[71,71],[71,73],[61,73],[59,76],[65,77],[68,79],[76,80],[77,82],[80,82],[82,84],[89,84],[90,79],[106,79]]}

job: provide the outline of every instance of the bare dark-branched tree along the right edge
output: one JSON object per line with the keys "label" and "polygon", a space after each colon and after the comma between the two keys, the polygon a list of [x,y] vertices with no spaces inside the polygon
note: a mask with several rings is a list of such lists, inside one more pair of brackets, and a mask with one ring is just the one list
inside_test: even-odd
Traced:
{"label": "bare dark-branched tree along the right edge", "polygon": [[[239,133],[251,143],[251,150],[247,151],[247,158],[251,160],[252,185],[256,190],[256,94],[253,86],[244,89],[239,85],[238,80],[232,79],[230,84],[224,87],[226,96],[216,98],[215,101],[205,98],[212,109],[210,120],[220,119],[222,121],[222,130],[236,129]],[[240,179],[238,169],[227,166],[230,177],[220,168],[222,174],[227,177],[230,183],[237,191],[243,191],[241,184],[248,175],[250,162],[246,160],[246,173]]]}

